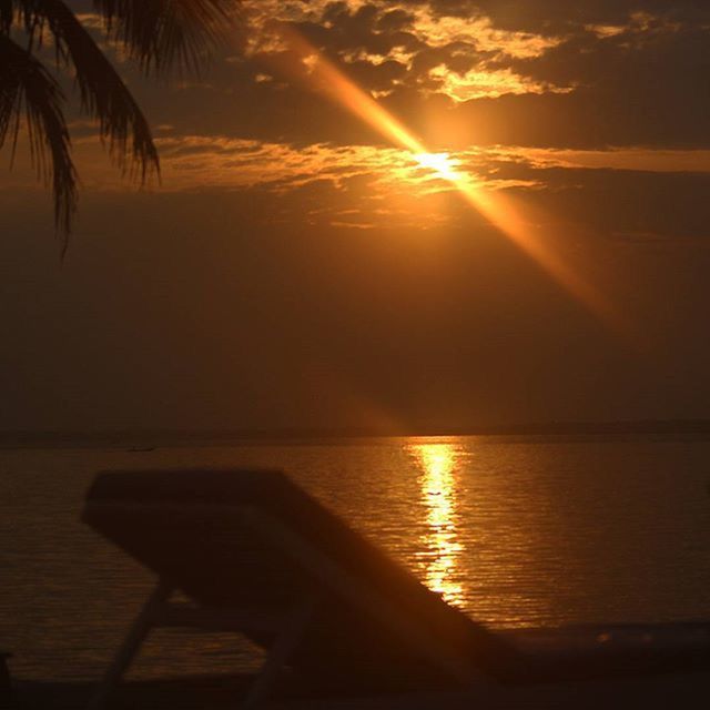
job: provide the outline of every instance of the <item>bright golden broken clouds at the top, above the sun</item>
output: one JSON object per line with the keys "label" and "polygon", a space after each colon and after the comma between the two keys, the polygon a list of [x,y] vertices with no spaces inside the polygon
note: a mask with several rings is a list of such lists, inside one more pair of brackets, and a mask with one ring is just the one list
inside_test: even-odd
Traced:
{"label": "bright golden broken clouds at the top, above the sun", "polygon": [[[480,13],[473,17],[440,16],[426,6],[406,10],[384,2],[331,2],[294,7],[247,3],[254,23],[251,55],[286,51],[282,27],[296,31],[317,50],[337,58],[365,89],[389,92],[396,87],[422,87],[456,100],[507,92],[545,90],[540,83],[525,85],[511,70],[488,71],[488,63],[500,58],[536,57],[558,40],[526,32],[496,29]],[[396,69],[383,83],[381,67]],[[432,71],[468,73],[459,82],[475,89],[464,93],[450,82],[437,81]],[[474,73],[475,72],[475,73]],[[432,81],[434,80],[434,81]]]}

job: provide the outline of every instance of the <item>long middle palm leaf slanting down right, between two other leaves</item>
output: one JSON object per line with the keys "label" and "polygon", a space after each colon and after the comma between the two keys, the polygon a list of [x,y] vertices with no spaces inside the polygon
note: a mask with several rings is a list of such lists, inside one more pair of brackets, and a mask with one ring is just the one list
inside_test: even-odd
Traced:
{"label": "long middle palm leaf slanting down right, between two other leaves", "polygon": [[150,125],[111,62],[61,0],[16,0],[24,28],[33,42],[52,36],[60,63],[73,68],[82,109],[98,119],[114,161],[138,172],[144,181],[160,171]]}

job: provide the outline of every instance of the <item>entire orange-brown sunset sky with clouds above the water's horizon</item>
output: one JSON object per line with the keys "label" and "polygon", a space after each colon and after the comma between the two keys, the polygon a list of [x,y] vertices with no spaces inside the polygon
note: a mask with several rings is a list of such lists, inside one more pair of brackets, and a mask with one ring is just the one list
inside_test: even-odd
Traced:
{"label": "entire orange-brown sunset sky with clouds above the water's horizon", "polygon": [[0,153],[0,429],[710,417],[706,0],[244,7],[199,77],[105,45],[162,176],[72,110],[63,261]]}

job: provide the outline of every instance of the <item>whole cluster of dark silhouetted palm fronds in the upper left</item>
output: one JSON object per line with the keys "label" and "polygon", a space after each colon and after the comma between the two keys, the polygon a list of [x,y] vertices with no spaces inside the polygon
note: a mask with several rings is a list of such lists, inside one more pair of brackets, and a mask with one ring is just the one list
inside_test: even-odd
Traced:
{"label": "whole cluster of dark silhouetted palm fronds in the upper left", "polygon": [[[119,43],[146,74],[195,72],[234,28],[240,0],[93,0],[108,40]],[[27,45],[22,47],[20,32]],[[148,121],[91,33],[63,0],[0,0],[0,148],[17,141],[26,115],[33,159],[54,193],[62,252],[77,206],[77,173],[64,122],[65,101],[38,59],[54,51],[73,75],[81,109],[98,120],[102,140],[123,170],[144,181],[159,172]],[[49,160],[47,160],[49,156]]]}

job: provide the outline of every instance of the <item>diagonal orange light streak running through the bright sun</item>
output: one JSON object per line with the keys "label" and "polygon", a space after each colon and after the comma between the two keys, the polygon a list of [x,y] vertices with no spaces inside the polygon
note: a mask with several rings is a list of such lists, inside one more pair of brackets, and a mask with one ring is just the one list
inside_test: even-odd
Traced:
{"label": "diagonal orange light streak running through the bright sun", "polygon": [[400,121],[300,34],[287,32],[284,39],[308,68],[310,81],[318,91],[346,108],[387,140],[409,151],[413,160],[419,165],[449,182],[468,204],[535,260],[590,312],[608,323],[618,321],[618,314],[607,298],[534,233],[529,220],[525,219],[516,201],[509,195],[477,185],[470,175],[456,170],[455,161],[450,160],[447,153],[429,152]]}

